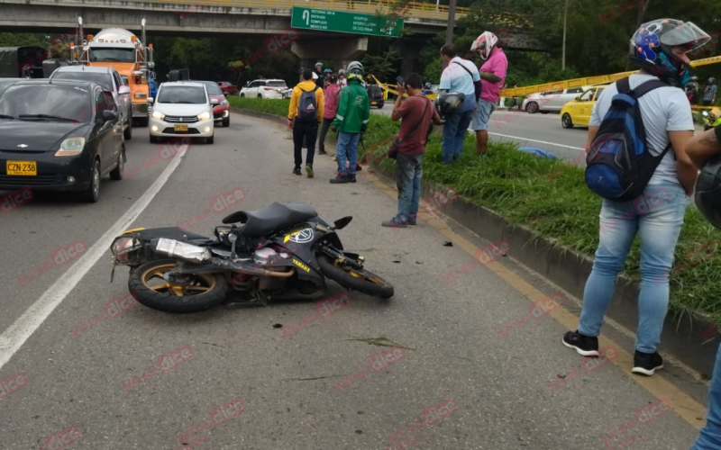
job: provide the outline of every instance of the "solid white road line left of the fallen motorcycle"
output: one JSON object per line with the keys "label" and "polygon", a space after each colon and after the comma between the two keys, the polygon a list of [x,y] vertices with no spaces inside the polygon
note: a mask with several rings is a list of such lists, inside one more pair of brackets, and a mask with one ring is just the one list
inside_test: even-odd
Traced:
{"label": "solid white road line left of the fallen motorcycle", "polygon": [[[68,269],[68,272],[60,275],[59,279],[48,288],[41,298],[32,303],[23,315],[13,322],[10,328],[6,329],[0,335],[0,370],[10,361],[26,340],[32,336],[36,329],[39,329],[52,311],[65,300],[65,297],[75,288],[75,286],[87,275],[90,269],[95,266],[98,259],[105,255],[105,252],[113,243],[113,239],[122,233],[129,225],[141,215],[141,212],[148,207],[155,195],[168,181],[170,175],[180,164],[182,157],[185,156],[186,148],[178,149],[176,157],[173,157],[170,164],[165,168],[162,174],[151,185],[151,187],[142,194],[141,198],[126,211],[123,216],[118,219],[114,225],[105,231],[105,234],[97,240],[93,247],[87,251],[85,255],[80,257],[78,261]],[[110,270],[110,266],[108,266]]]}

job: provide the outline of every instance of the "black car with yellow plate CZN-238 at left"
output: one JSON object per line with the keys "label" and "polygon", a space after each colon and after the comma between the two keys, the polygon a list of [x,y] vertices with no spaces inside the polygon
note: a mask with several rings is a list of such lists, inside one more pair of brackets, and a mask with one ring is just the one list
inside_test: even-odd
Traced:
{"label": "black car with yellow plate CZN-238 at left", "polygon": [[79,191],[123,179],[125,140],[113,93],[87,81],[28,80],[0,95],[0,190]]}

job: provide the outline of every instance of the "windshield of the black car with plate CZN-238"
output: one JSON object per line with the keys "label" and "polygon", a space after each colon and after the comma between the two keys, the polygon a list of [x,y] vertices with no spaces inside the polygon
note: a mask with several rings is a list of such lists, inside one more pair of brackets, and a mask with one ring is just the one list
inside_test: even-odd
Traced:
{"label": "windshield of the black car with plate CZN-238", "polygon": [[80,86],[13,85],[0,96],[0,120],[41,114],[86,122],[91,116],[90,97],[90,91]]}

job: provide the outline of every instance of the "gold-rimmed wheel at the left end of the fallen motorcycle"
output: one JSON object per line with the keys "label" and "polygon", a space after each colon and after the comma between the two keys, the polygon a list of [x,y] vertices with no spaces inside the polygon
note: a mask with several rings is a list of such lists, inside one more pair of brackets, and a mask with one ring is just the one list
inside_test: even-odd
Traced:
{"label": "gold-rimmed wheel at the left end of the fallen motorcycle", "polygon": [[198,312],[224,302],[228,284],[221,274],[186,275],[182,284],[163,277],[176,265],[174,259],[150,261],[131,269],[128,289],[138,302],[164,312]]}

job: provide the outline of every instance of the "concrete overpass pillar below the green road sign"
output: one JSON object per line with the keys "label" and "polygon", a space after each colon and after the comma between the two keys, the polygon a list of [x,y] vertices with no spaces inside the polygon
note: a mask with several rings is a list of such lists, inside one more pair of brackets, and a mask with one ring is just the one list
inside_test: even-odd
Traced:
{"label": "concrete overpass pillar below the green road sign", "polygon": [[300,58],[303,67],[313,68],[318,59],[333,58],[333,72],[338,72],[368,50],[368,37],[297,40],[290,49]]}

